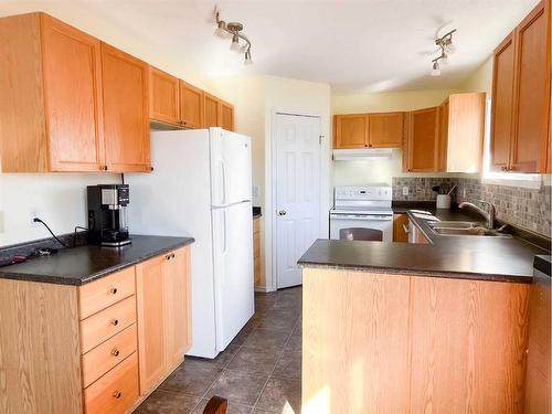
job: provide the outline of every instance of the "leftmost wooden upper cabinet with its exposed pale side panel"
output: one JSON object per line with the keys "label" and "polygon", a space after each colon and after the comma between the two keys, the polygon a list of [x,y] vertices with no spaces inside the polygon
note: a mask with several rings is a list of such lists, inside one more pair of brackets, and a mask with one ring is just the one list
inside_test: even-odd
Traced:
{"label": "leftmost wooden upper cabinet with its exposed pale side panel", "polygon": [[44,13],[0,19],[3,172],[98,171],[99,41]]}

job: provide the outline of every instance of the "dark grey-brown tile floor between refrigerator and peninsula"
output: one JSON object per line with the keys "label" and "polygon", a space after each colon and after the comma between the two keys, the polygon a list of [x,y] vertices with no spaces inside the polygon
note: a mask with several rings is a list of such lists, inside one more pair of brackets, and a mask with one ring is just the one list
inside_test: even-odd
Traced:
{"label": "dark grey-brown tile floor between refrigerator and peninsula", "polygon": [[135,414],[201,414],[212,395],[227,414],[298,414],[301,288],[255,295],[255,315],[214,360],[187,358]]}

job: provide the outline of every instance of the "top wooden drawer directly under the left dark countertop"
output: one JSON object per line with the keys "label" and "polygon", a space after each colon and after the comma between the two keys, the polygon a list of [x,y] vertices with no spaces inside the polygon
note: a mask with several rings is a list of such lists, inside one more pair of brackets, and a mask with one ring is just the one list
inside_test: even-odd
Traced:
{"label": "top wooden drawer directly under the left dark countertop", "polygon": [[78,288],[78,316],[83,320],[136,294],[135,267],[114,273]]}

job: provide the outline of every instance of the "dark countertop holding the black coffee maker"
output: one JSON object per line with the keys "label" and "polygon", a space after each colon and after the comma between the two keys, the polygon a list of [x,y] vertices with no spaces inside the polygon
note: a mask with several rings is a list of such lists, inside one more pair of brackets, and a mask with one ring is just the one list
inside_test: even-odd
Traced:
{"label": "dark countertop holding the black coffee maker", "polygon": [[88,244],[0,267],[0,278],[79,286],[194,242],[192,237],[130,237],[132,243],[119,248]]}

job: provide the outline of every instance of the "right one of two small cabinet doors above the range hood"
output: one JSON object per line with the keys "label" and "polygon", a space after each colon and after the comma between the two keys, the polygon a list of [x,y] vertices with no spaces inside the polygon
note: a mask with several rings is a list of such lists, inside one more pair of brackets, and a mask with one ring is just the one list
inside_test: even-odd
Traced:
{"label": "right one of two small cabinet doors above the range hood", "polygon": [[404,136],[404,113],[370,114],[368,146],[401,148]]}

